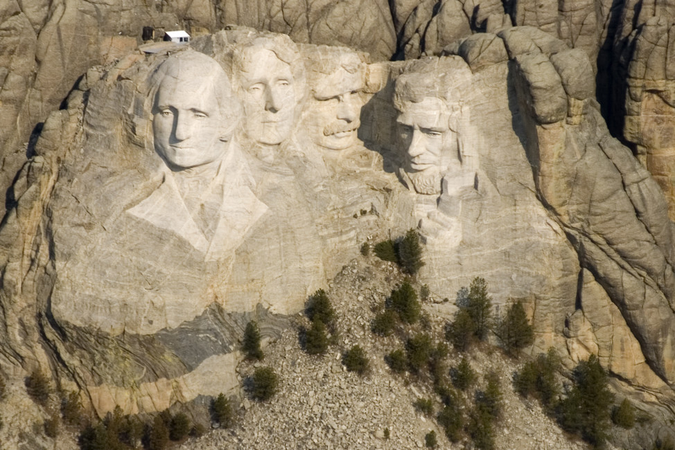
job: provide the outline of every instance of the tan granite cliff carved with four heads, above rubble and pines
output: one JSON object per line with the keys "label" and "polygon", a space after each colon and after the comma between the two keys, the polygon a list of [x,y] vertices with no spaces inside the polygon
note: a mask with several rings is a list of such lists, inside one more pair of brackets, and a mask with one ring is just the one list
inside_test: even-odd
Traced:
{"label": "tan granite cliff carved with four heads, above rubble and pines", "polygon": [[[391,13],[377,2],[315,2],[309,15],[287,15],[292,3],[259,14],[196,3],[134,20],[218,28],[236,17],[290,37],[230,26],[191,48],[115,53],[89,69],[100,54],[75,57],[81,67],[51,56],[86,73],[18,174],[9,168],[21,158],[7,163],[3,372],[41,368],[100,414],[231,392],[249,320],[277,338],[362,242],[417,228],[419,280],[434,296],[454,298],[482,276],[498,308],[523,301],[536,331],[530,352],[553,345],[568,367],[598,354],[615,388],[674,414],[667,22],[645,19],[630,37],[621,28],[635,42],[622,64],[624,137],[636,158],[596,100],[595,58],[615,22],[592,3],[570,12],[538,3],[534,14],[522,2],[507,11],[402,1]],[[40,35],[87,16],[77,5],[51,5],[57,20],[12,3],[4,23],[35,40],[41,24]],[[124,23],[139,8],[96,20]],[[381,14],[341,28],[360,8]],[[395,51],[437,56],[383,61]],[[49,67],[45,58],[35,64]],[[11,67],[0,93],[14,100],[1,119],[32,123],[42,113],[21,111],[42,69]],[[54,82],[35,102],[60,103],[68,89]],[[451,318],[455,305],[430,309]]]}

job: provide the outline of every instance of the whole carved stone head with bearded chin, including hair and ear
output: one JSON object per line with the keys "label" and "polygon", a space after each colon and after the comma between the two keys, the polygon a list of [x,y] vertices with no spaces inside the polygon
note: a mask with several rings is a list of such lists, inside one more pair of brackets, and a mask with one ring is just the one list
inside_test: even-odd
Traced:
{"label": "whole carved stone head with bearded chin, including hair and ear", "polygon": [[439,194],[448,166],[461,162],[457,145],[461,83],[455,82],[459,70],[467,70],[460,69],[461,64],[421,60],[396,80],[394,107],[403,171],[419,194]]}

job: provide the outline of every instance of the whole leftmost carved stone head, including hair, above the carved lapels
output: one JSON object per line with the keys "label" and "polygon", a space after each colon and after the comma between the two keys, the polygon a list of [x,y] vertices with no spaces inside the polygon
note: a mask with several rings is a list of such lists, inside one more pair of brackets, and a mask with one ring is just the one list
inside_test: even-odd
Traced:
{"label": "whole leftmost carved stone head, including hair, above the carved lapels", "polygon": [[155,151],[171,170],[219,160],[240,116],[229,79],[211,57],[195,51],[171,55],[153,75]]}

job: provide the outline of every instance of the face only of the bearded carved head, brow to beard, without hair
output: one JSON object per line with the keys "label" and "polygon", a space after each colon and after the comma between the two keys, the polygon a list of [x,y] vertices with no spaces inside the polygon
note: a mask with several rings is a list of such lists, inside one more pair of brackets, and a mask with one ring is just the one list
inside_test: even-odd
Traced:
{"label": "face only of the bearded carved head, brow to beard, without hair", "polygon": [[455,134],[450,130],[449,120],[448,109],[439,98],[403,102],[396,120],[405,155],[403,168],[419,193],[440,192],[445,161],[455,146]]}

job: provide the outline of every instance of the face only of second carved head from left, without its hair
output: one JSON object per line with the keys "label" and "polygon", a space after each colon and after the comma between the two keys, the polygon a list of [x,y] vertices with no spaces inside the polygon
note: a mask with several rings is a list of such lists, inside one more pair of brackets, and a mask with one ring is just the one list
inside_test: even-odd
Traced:
{"label": "face only of second carved head from left, without its hair", "polygon": [[240,61],[241,100],[247,136],[265,145],[286,141],[295,122],[295,96],[290,64],[266,48],[249,47]]}

